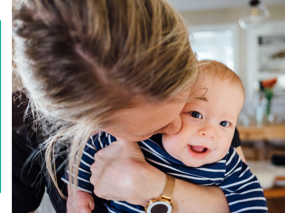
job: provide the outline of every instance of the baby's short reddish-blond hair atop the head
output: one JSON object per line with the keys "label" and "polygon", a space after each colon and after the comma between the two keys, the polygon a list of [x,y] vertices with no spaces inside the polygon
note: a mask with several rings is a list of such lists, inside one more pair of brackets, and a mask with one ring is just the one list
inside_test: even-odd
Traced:
{"label": "baby's short reddish-blond hair atop the head", "polygon": [[[214,77],[219,78],[219,80],[224,81],[227,80],[230,83],[239,85],[241,89],[243,90],[243,94],[245,95],[245,89],[243,87],[243,83],[241,82],[241,79],[239,76],[233,72],[230,68],[228,68],[225,64],[215,61],[215,60],[201,60],[198,62],[198,69],[199,69],[199,76],[194,83],[194,87],[196,83],[200,83],[201,78],[203,78],[203,74],[211,74]],[[205,94],[207,93],[207,88],[203,87],[200,91],[199,96],[197,94],[191,94],[188,98],[188,101],[191,101],[191,99],[200,99],[203,101],[207,101],[207,98],[205,97]]]}

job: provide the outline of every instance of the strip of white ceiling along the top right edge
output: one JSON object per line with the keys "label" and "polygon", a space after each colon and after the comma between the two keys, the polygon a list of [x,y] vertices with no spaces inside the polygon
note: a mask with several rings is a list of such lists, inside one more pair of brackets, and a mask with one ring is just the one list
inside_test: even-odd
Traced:
{"label": "strip of white ceiling along the top right edge", "polygon": [[[229,7],[246,7],[250,0],[167,0],[179,11],[207,10]],[[260,0],[262,4],[285,4],[285,0]]]}

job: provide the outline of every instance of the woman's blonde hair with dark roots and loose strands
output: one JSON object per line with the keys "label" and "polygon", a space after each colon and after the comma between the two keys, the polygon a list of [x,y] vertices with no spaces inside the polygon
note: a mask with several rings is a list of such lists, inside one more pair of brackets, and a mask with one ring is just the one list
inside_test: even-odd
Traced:
{"label": "woman's blonde hair with dark roots and loose strands", "polygon": [[186,25],[164,0],[17,1],[12,37],[23,91],[48,136],[47,170],[61,196],[54,158],[62,146],[76,187],[76,158],[92,132],[117,110],[133,107],[133,97],[171,100],[198,74]]}

